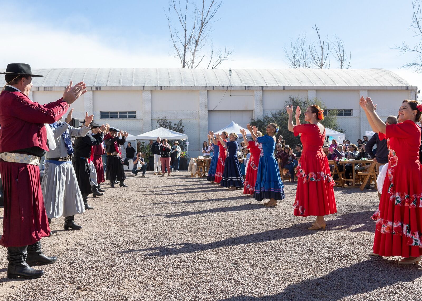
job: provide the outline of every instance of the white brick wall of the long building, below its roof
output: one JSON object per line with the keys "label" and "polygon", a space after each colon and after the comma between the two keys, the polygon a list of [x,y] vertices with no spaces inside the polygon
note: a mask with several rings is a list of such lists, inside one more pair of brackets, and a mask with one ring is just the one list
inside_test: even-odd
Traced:
{"label": "white brick wall of the long building, below its roof", "polygon": [[[109,123],[119,129],[138,135],[158,127],[158,118],[172,123],[183,121],[184,133],[189,137],[189,155],[197,156],[208,130],[217,131],[235,121],[246,126],[255,114],[269,115],[284,110],[290,95],[300,98],[317,97],[328,109],[352,109],[352,116],[338,116],[338,124],[346,139],[356,143],[365,131],[371,130],[363,110],[360,95],[369,96],[378,104],[377,113],[385,120],[397,115],[401,100],[411,98],[408,90],[103,90],[88,91],[72,107],[73,117],[83,119],[92,107],[95,122]],[[413,93],[413,94],[412,94]],[[41,104],[62,97],[62,91],[33,91],[34,101]],[[231,95],[231,96],[230,96]],[[91,100],[92,99],[92,105]],[[100,111],[136,111],[136,118],[100,119]],[[91,113],[91,112],[89,112]],[[182,143],[181,143],[181,146]]]}

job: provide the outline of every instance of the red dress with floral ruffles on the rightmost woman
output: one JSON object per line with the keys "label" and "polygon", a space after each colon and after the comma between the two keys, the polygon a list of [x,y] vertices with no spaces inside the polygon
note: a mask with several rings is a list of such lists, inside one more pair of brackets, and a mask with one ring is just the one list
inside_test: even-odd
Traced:
{"label": "red dress with floral ruffles on the rightmost woman", "polygon": [[388,170],[376,220],[373,252],[381,256],[422,255],[421,129],[413,121],[390,124],[379,139],[387,138]]}

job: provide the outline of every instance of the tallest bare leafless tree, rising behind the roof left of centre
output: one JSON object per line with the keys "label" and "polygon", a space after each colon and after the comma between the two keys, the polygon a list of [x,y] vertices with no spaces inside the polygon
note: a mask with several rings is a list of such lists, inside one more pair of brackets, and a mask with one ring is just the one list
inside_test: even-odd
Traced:
{"label": "tallest bare leafless tree, rising behind the roof left of centre", "polygon": [[[202,0],[200,6],[189,3],[189,0],[170,0],[168,13],[168,28],[170,38],[175,51],[174,57],[179,59],[182,68],[197,68],[206,53],[203,54],[207,45],[210,47],[210,60],[208,68],[217,68],[223,61],[229,59],[233,50],[225,48],[214,50],[214,42],[207,43],[212,32],[212,23],[218,21],[216,13],[223,2],[216,0]],[[177,25],[171,23],[171,13],[176,13]]]}

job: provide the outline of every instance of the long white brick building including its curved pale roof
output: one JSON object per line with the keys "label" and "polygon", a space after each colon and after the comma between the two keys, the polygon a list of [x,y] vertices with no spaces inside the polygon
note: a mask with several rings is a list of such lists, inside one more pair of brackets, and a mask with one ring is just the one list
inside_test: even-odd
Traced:
{"label": "long white brick building including its curved pale roof", "polygon": [[252,117],[283,109],[290,95],[317,97],[327,109],[344,110],[338,122],[352,142],[370,130],[358,105],[360,95],[379,105],[377,112],[383,119],[397,115],[403,99],[417,98],[416,86],[384,69],[235,69],[231,78],[227,71],[38,69],[34,73],[45,76],[34,78],[30,97],[48,103],[62,96],[70,80],[84,81],[88,92],[72,105],[75,118],[93,113],[97,123],[133,135],[157,128],[158,118],[181,119],[191,156],[199,154],[208,130],[219,130],[231,121],[246,126]]}

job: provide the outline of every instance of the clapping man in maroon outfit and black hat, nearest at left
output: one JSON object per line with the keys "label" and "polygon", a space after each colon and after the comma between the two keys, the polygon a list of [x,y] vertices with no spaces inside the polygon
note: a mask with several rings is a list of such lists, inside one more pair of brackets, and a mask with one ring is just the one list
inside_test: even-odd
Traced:
{"label": "clapping man in maroon outfit and black hat, nearest at left", "polygon": [[[0,94],[0,174],[4,189],[3,235],[7,247],[8,278],[37,278],[43,270],[29,265],[51,264],[41,250],[40,239],[49,236],[50,227],[40,185],[41,157],[54,149],[54,135],[48,124],[58,121],[78,97],[86,92],[80,82],[65,88],[63,98],[40,105],[29,99],[34,75],[28,64],[8,64],[6,86]],[[45,126],[47,124],[47,126]],[[49,145],[47,145],[49,132]]]}

